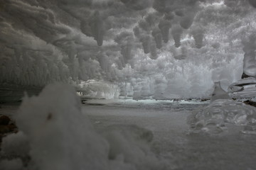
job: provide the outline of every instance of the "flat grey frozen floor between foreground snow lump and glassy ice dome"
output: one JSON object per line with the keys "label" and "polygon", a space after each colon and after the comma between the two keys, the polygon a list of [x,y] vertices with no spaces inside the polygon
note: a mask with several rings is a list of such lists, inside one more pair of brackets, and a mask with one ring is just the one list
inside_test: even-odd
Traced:
{"label": "flat grey frozen floor between foreground snow lump and glassy ice dome", "polygon": [[206,105],[196,101],[89,101],[82,109],[97,130],[113,124],[151,130],[152,149],[168,160],[170,169],[256,169],[255,135],[243,135],[238,127],[221,135],[188,135],[186,118],[193,109]]}

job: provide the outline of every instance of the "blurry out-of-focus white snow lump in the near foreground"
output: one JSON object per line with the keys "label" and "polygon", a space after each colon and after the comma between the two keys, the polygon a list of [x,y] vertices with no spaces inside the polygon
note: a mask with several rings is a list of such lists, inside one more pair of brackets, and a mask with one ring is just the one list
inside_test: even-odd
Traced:
{"label": "blurry out-of-focus white snow lump in the near foreground", "polygon": [[[75,89],[46,86],[23,98],[16,115],[17,134],[4,137],[0,167],[9,169],[161,169],[151,152],[152,133],[136,125],[96,132],[80,108]],[[9,159],[8,159],[9,158]],[[12,159],[13,158],[13,159]]]}

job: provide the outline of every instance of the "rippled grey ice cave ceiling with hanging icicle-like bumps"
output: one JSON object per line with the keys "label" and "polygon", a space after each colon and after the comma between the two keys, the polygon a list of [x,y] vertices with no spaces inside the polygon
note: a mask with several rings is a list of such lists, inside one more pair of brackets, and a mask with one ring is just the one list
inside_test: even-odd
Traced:
{"label": "rippled grey ice cave ceiling with hanging icicle-like bumps", "polygon": [[225,88],[240,79],[245,42],[255,43],[255,7],[254,0],[1,0],[0,82],[94,79],[138,97],[202,97],[214,81]]}

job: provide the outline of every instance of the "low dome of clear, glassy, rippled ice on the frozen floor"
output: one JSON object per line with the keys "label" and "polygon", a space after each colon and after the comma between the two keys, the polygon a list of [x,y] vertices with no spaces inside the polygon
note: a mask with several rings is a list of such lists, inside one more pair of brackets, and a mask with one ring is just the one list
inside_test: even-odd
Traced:
{"label": "low dome of clear, glassy, rippled ice on the frozen floor", "polygon": [[241,132],[256,135],[256,108],[245,103],[218,99],[188,116],[191,133],[216,134],[228,130],[228,125],[243,127]]}

